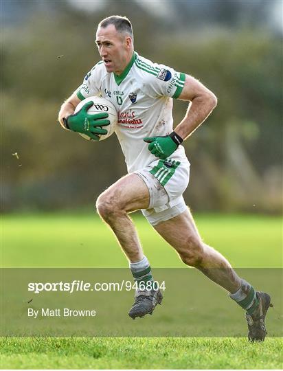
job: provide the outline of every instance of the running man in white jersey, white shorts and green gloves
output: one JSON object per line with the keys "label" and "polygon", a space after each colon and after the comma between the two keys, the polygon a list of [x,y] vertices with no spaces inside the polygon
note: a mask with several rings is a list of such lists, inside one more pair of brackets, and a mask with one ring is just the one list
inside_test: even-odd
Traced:
{"label": "running man in white jersey, white shorts and green gloves", "polygon": [[[264,340],[264,319],[272,305],[270,296],[255,291],[218,251],[203,243],[183,199],[190,163],[181,143],[210,115],[216,96],[192,76],[139,56],[134,51],[133,29],[126,17],[109,16],[102,20],[96,45],[102,60],[63,103],[58,120],[66,129],[98,139],[98,135],[106,133],[107,114],[88,114],[92,105],[89,102],[74,115],[76,106],[87,97],[101,95],[117,109],[116,134],[128,175],[100,194],[96,206],[117,237],[137,282],[135,302],[128,314],[133,319],[144,317],[162,300],[161,291],[150,284],[150,263],[128,216],[141,210],[186,265],[199,269],[222,286],[245,309],[249,339]],[[174,131],[172,98],[190,102]]]}

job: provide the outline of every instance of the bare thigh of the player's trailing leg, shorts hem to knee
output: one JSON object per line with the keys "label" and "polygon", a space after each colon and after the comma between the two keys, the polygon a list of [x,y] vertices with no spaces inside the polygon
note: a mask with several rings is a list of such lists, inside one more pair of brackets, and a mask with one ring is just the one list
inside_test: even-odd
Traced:
{"label": "bare thigh of the player's trailing leg, shorts hem to knee", "polygon": [[154,228],[179,253],[183,249],[188,249],[188,240],[201,241],[201,236],[189,208],[182,214],[155,225]]}

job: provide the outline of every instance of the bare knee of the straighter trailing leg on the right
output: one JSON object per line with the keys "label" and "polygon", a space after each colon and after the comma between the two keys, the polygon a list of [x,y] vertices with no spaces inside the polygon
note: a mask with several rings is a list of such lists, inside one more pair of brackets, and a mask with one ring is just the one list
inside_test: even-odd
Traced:
{"label": "bare knee of the straighter trailing leg on the right", "polygon": [[204,246],[203,242],[197,236],[189,236],[185,241],[183,251],[179,252],[181,260],[191,267],[201,267],[203,261]]}

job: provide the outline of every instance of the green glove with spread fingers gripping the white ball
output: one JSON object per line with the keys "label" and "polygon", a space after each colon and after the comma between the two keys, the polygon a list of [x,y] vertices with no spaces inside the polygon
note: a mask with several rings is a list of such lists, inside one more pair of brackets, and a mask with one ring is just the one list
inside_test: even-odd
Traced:
{"label": "green glove with spread fingers gripping the white ball", "polygon": [[107,134],[106,129],[102,128],[102,126],[109,125],[110,121],[105,120],[108,117],[108,113],[89,115],[87,110],[91,106],[93,106],[93,102],[87,102],[80,111],[70,115],[67,119],[64,118],[63,122],[69,130],[88,135],[91,139],[99,140],[100,137],[98,135]]}

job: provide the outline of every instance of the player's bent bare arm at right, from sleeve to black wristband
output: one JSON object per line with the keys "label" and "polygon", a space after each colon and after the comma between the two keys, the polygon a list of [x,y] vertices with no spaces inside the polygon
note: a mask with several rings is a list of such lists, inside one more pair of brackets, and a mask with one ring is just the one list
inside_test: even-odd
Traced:
{"label": "player's bent bare arm at right, from sleeve to black wristband", "polygon": [[217,98],[201,82],[192,76],[185,76],[185,86],[179,99],[190,100],[188,110],[183,120],[174,128],[174,132],[186,139],[205,121],[216,107]]}

